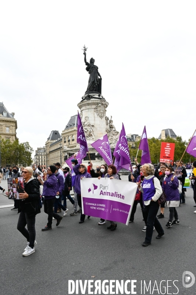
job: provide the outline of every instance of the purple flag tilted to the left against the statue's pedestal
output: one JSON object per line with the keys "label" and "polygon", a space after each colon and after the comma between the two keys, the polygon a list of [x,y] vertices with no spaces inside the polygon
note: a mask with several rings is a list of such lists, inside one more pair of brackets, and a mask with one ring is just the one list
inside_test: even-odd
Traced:
{"label": "purple flag tilted to the left against the statue's pedestal", "polygon": [[96,140],[91,146],[99,152],[107,165],[112,164],[112,152],[107,134]]}

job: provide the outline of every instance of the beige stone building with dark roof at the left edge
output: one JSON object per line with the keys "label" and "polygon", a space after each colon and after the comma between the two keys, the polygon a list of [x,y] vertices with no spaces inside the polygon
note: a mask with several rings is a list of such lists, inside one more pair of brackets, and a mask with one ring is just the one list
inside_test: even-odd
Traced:
{"label": "beige stone building with dark roof at the left edge", "polygon": [[9,113],[3,102],[0,102],[0,138],[14,142],[16,137],[17,120],[14,113]]}

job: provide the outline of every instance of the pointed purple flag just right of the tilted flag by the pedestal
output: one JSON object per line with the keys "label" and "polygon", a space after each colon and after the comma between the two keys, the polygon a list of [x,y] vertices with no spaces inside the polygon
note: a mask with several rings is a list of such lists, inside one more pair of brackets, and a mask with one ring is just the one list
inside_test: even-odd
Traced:
{"label": "pointed purple flag just right of the tilted flag by the pedestal", "polygon": [[115,150],[113,152],[113,155],[116,157],[114,165],[116,166],[117,170],[120,169],[119,167],[122,167],[129,171],[132,170],[131,159],[129,155],[129,146],[127,143],[127,137],[123,123],[122,130],[120,132],[120,136],[116,144]]}

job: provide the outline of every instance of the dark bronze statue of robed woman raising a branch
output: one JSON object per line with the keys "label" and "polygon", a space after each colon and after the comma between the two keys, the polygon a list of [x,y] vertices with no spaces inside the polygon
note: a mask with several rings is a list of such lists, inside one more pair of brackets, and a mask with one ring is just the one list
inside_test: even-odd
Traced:
{"label": "dark bronze statue of robed woman raising a branch", "polygon": [[[90,63],[86,61],[86,52],[84,52],[84,62],[86,66],[86,71],[89,73],[90,77],[88,80],[88,87],[86,89],[86,92],[89,91],[96,91],[101,93],[99,87],[100,80],[102,80],[100,73],[98,72],[98,66],[94,64],[95,60],[93,58],[90,59]],[[100,79],[99,79],[100,77]],[[85,93],[86,93],[85,92]]]}

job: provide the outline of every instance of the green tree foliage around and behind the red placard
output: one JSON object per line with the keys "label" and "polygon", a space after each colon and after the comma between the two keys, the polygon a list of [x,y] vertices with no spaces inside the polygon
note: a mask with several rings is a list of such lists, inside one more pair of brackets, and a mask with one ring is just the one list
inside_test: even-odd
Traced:
{"label": "green tree foliage around and behind the red placard", "polygon": [[[148,139],[148,146],[149,146],[149,151],[150,151],[150,158],[152,163],[158,163],[160,160],[160,152],[161,152],[161,143],[166,142],[166,143],[174,143],[175,144],[175,151],[174,151],[174,161],[180,160],[185,148],[188,145],[188,142],[183,141],[181,136],[177,136],[176,140],[172,139],[170,137],[167,137],[165,140],[161,139],[159,140],[158,138],[152,137]],[[131,148],[131,144],[129,143],[129,151],[130,151],[130,156],[131,159],[136,157],[136,154],[138,152],[138,147],[140,145],[140,141],[135,143],[135,148]],[[141,159],[141,150],[138,152],[138,161]],[[195,158],[185,152],[182,161],[184,162],[193,162]]]}

